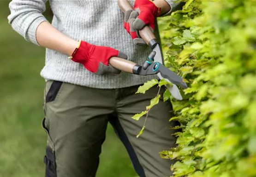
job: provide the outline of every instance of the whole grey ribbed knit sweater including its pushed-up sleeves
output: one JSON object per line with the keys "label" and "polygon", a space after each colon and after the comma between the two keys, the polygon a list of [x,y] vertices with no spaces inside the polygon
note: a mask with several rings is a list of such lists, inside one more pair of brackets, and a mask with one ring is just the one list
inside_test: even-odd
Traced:
{"label": "whole grey ribbed knit sweater including its pushed-up sleeves", "polygon": [[[38,45],[37,26],[47,21],[42,15],[47,0],[12,0],[8,16],[12,28],[26,40]],[[110,46],[128,55],[128,60],[143,64],[150,53],[148,46],[135,46],[123,27],[124,14],[117,0],[49,0],[54,13],[52,25],[74,40]],[[129,0],[133,6],[133,0]],[[167,0],[175,11],[177,5]],[[158,29],[155,31],[158,36]],[[122,72],[118,75],[96,75],[60,52],[46,49],[46,63],[41,71],[45,80],[60,80],[94,88],[121,88],[143,84],[154,76]]]}

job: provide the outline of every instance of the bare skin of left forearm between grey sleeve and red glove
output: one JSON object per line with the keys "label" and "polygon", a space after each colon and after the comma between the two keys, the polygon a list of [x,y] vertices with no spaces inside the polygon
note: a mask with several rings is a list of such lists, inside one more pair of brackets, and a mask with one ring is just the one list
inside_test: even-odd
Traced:
{"label": "bare skin of left forearm between grey sleeve and red glove", "polygon": [[55,29],[48,22],[42,22],[37,27],[36,40],[40,46],[62,52],[68,56],[71,56],[79,43]]}

